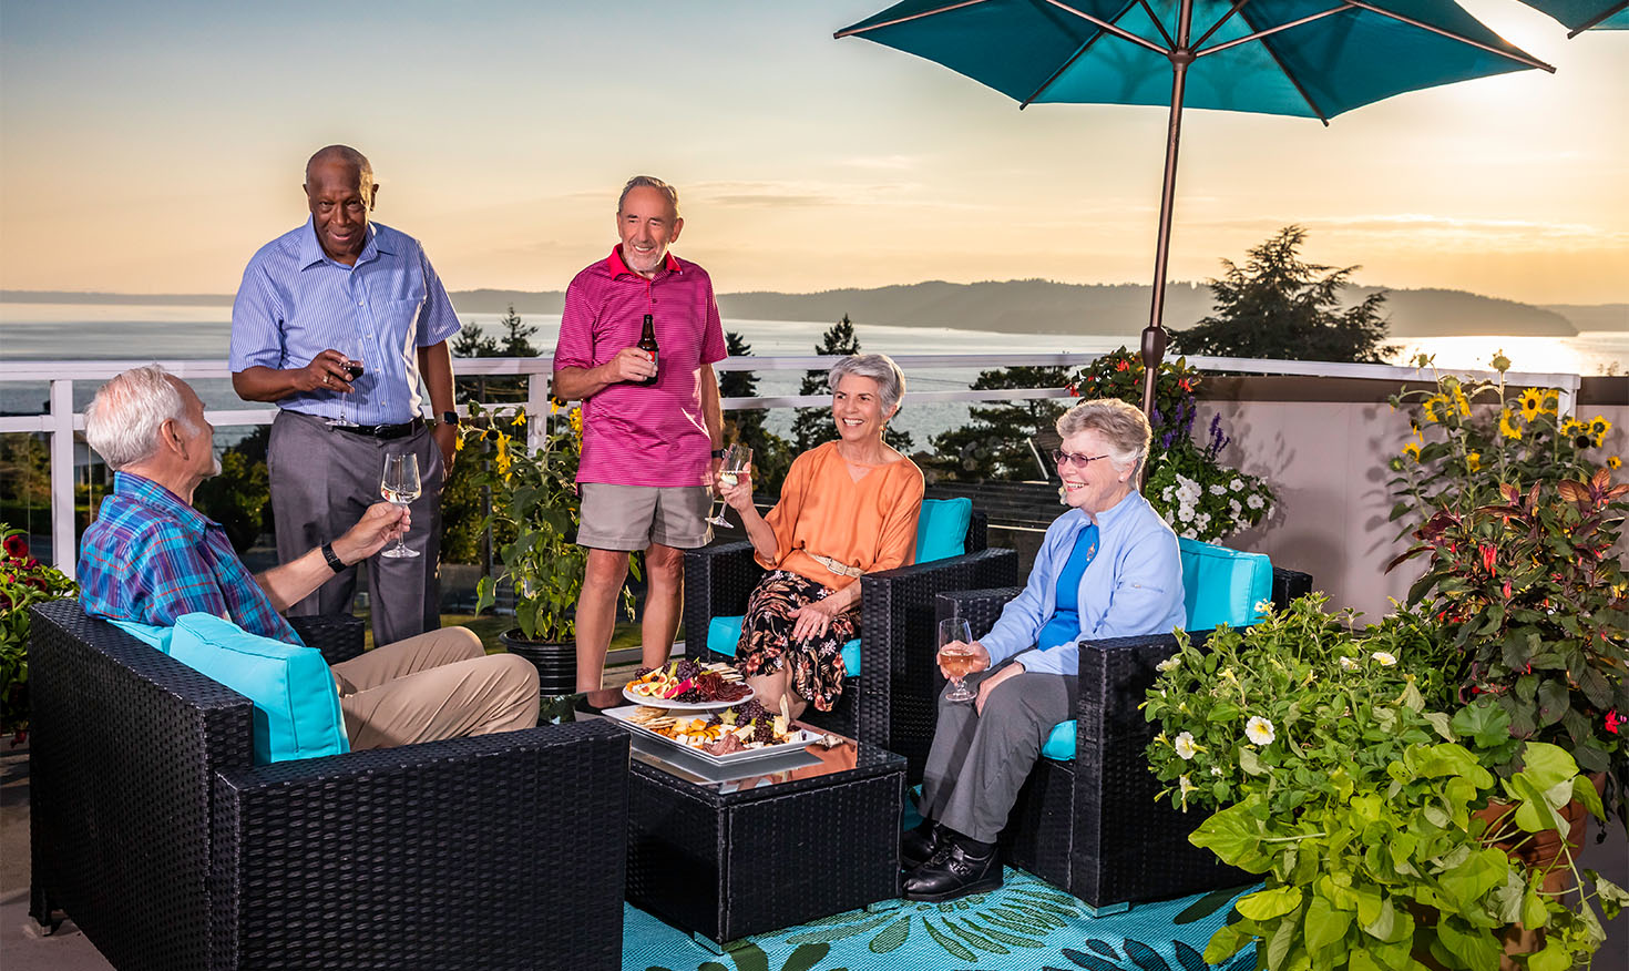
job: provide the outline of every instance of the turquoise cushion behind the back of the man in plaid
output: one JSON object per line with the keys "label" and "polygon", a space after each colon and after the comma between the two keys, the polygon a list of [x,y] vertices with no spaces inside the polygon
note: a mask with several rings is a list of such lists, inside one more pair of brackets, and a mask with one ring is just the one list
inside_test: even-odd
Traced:
{"label": "turquoise cushion behind the back of the man in plaid", "polygon": [[314,647],[249,634],[213,614],[176,621],[169,657],[254,702],[254,762],[350,751],[334,674]]}

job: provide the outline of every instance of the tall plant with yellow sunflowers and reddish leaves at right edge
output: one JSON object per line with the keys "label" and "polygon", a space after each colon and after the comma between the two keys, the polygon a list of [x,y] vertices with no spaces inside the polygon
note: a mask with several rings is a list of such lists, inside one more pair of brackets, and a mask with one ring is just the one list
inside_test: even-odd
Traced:
{"label": "tall plant with yellow sunflowers and reddish leaves at right edge", "polygon": [[1504,355],[1494,368],[1494,381],[1442,375],[1393,399],[1416,442],[1391,461],[1393,518],[1414,539],[1391,567],[1424,557],[1409,603],[1442,624],[1455,701],[1565,749],[1598,777],[1606,818],[1629,824],[1629,578],[1611,552],[1629,484],[1595,459],[1609,422],[1559,415],[1554,389],[1505,388]]}

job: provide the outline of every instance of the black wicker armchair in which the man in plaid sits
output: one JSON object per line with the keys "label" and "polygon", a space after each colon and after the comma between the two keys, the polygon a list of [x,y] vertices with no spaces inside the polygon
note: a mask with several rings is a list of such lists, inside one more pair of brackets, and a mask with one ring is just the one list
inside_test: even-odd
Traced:
{"label": "black wicker armchair in which the man in plaid sits", "polygon": [[622,966],[617,727],[256,766],[248,699],[75,601],[34,608],[29,670],[29,914],[121,971]]}

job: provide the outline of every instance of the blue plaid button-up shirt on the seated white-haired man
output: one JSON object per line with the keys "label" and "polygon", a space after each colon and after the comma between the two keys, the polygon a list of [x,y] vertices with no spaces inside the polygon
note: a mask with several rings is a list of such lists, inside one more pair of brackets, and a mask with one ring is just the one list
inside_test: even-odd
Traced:
{"label": "blue plaid button-up shirt on the seated white-haired man", "polygon": [[117,472],[80,541],[80,603],[93,617],[173,627],[181,614],[225,617],[303,644],[266,600],[226,531],[158,482]]}

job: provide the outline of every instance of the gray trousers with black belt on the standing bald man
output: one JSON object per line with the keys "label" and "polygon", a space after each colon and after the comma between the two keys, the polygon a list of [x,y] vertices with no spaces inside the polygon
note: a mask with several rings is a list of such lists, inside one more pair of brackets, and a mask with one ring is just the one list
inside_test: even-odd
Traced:
{"label": "gray trousers with black belt on the standing bald man", "polygon": [[[277,559],[288,562],[311,547],[331,543],[357,525],[380,497],[386,455],[419,456],[419,499],[407,507],[412,528],[407,546],[417,557],[368,560],[368,595],[373,642],[396,644],[441,626],[441,450],[428,428],[381,442],[331,428],[324,419],[292,411],[277,412],[266,464],[277,516]],[[349,614],[357,593],[357,567],[336,573],[311,596],[288,609],[290,616]]]}

